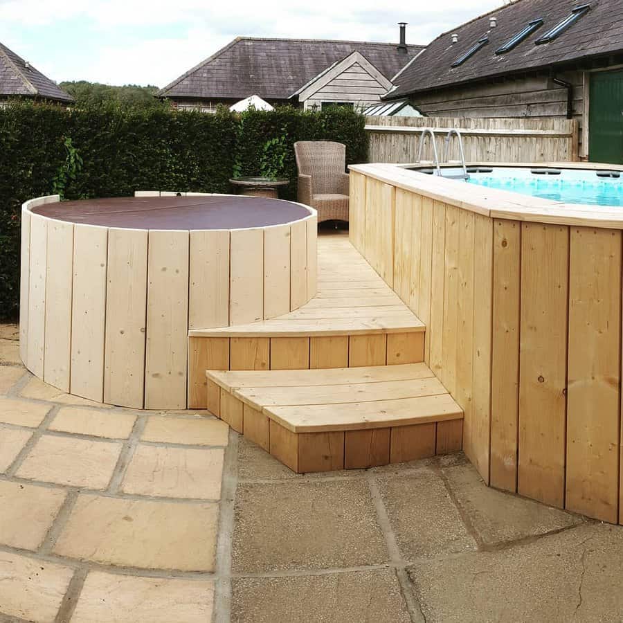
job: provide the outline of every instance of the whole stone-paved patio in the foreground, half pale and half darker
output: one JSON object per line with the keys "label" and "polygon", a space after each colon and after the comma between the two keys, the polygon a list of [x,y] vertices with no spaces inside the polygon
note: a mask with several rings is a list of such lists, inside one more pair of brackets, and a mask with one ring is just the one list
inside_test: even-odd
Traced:
{"label": "whole stone-paved patio in the foreground, half pale and half darker", "polygon": [[0,622],[605,622],[623,530],[462,454],[298,476],[207,413],[102,407],[0,325]]}

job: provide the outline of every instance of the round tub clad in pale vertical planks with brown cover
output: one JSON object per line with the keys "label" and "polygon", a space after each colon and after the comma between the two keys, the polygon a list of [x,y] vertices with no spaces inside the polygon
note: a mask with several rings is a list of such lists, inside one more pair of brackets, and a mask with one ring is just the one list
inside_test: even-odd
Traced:
{"label": "round tub clad in pale vertical planks with brown cover", "polygon": [[26,201],[21,359],[73,395],[183,409],[189,330],[273,318],[316,294],[316,212],[277,199],[136,195]]}

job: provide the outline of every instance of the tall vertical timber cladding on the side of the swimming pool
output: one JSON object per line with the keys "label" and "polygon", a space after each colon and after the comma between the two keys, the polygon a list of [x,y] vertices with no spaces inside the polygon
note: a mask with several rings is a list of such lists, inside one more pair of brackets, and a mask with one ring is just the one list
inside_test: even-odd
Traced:
{"label": "tall vertical timber cladding on the side of the swimming pool", "polygon": [[499,219],[351,172],[351,242],[426,323],[491,486],[620,508],[620,229]]}

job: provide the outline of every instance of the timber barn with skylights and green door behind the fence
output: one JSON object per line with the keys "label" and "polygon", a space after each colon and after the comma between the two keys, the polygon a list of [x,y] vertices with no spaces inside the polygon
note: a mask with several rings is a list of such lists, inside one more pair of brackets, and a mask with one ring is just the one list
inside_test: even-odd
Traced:
{"label": "timber barn with skylights and green door behind the fence", "polygon": [[383,99],[428,116],[575,118],[579,155],[623,163],[623,2],[516,0],[437,37]]}

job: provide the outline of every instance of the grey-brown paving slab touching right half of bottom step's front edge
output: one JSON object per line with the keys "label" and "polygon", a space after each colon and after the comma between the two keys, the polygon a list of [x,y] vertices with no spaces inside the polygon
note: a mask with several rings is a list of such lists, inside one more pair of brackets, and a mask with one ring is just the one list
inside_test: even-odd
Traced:
{"label": "grey-brown paving slab touching right half of bottom step's front edge", "polygon": [[476,549],[441,476],[423,466],[399,477],[379,478],[381,496],[406,559]]}

